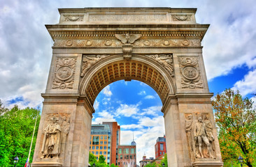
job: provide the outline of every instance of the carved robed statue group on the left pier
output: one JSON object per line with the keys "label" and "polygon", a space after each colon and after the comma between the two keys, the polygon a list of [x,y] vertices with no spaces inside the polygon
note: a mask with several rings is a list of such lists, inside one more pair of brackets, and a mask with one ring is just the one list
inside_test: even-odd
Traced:
{"label": "carved robed statue group on the left pier", "polygon": [[43,144],[41,159],[55,159],[59,161],[59,155],[64,148],[66,136],[70,129],[70,115],[66,113],[50,114],[45,120],[43,128]]}

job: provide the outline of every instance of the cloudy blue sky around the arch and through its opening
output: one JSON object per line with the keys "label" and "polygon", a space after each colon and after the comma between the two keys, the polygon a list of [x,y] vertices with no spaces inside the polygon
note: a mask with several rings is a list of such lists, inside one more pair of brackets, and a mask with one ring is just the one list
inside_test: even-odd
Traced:
{"label": "cloudy blue sky around the arch and through its opening", "polygon": [[[200,24],[211,24],[202,41],[210,92],[256,93],[256,5],[253,0],[0,0],[0,99],[4,106],[42,106],[52,39],[45,24],[57,24],[57,8],[169,7],[197,8]],[[154,157],[155,140],[164,134],[162,102],[155,90],[139,81],[117,81],[99,93],[93,122],[115,120],[121,143],[137,143],[137,159]]]}

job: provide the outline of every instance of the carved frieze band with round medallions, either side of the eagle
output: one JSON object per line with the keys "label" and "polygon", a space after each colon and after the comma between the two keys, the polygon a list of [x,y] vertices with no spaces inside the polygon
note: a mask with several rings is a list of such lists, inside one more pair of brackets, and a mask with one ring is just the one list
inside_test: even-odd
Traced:
{"label": "carved frieze band with round medallions, either side of the eagle", "polygon": [[[120,47],[120,40],[55,40],[54,47]],[[200,40],[136,40],[134,47],[199,47]]]}

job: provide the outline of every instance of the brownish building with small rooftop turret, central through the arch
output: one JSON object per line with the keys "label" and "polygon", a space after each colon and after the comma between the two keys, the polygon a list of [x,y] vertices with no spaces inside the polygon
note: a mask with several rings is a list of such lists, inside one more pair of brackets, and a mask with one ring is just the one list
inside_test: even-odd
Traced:
{"label": "brownish building with small rooftop turret, central through the arch", "polygon": [[118,145],[118,166],[119,167],[136,167],[136,143],[131,145]]}

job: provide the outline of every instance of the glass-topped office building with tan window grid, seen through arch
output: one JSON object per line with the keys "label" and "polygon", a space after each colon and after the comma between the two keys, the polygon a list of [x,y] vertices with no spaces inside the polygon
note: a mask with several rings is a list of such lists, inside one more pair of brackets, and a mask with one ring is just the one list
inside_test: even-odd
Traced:
{"label": "glass-topped office building with tan window grid, seen through arch", "polygon": [[90,152],[99,159],[102,154],[107,164],[111,159],[111,129],[109,125],[92,125],[90,136]]}

